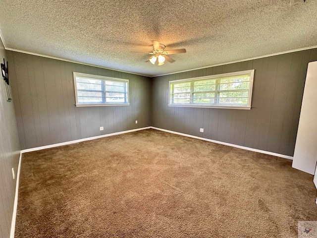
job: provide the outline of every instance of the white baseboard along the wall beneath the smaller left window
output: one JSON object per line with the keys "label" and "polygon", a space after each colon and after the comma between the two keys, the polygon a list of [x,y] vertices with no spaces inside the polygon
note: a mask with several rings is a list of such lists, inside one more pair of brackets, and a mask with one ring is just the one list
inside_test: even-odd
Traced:
{"label": "white baseboard along the wall beneath the smaller left window", "polygon": [[87,141],[87,140],[95,140],[95,139],[108,137],[108,136],[112,136],[112,135],[119,135],[119,134],[129,133],[129,132],[138,131],[138,130],[150,129],[150,128],[151,128],[151,126],[148,126],[148,127],[142,127],[142,128],[132,129],[132,130],[124,130],[124,131],[114,132],[114,133],[105,134],[105,135],[98,135],[98,136],[83,138],[83,139],[79,139],[79,140],[71,140],[71,141],[66,141],[66,142],[52,144],[52,145],[45,145],[45,146],[25,149],[25,150],[22,150],[21,153],[26,153],[26,152],[36,151],[36,150],[43,150],[43,149],[53,148],[53,147],[57,147],[57,146],[61,146],[61,145],[69,145],[69,144],[74,144],[74,143]]}

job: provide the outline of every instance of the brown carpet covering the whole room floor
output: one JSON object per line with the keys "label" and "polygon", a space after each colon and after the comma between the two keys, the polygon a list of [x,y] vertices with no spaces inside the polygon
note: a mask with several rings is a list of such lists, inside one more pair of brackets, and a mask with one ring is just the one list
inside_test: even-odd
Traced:
{"label": "brown carpet covering the whole room floor", "polygon": [[291,161],[154,129],[23,154],[17,238],[297,238]]}

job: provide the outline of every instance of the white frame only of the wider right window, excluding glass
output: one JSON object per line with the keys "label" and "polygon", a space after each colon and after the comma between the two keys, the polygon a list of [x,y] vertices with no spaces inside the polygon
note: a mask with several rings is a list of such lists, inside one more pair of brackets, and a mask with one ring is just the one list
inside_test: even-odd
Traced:
{"label": "white frame only of the wider right window, excluding glass", "polygon": [[[242,76],[242,75],[250,75],[250,89],[249,89],[249,101],[248,105],[241,106],[241,105],[216,105],[216,104],[172,104],[171,100],[171,84],[174,83],[183,83],[183,82],[193,82],[193,81],[199,81],[204,79],[217,79],[217,78],[224,78],[224,77],[232,77],[232,76]],[[252,91],[253,91],[253,78],[254,78],[254,69],[251,70],[244,70],[239,72],[231,72],[231,73],[221,73],[221,74],[215,74],[215,75],[208,75],[203,77],[195,77],[195,78],[187,78],[187,79],[180,79],[180,80],[173,80],[169,81],[168,85],[168,107],[189,107],[189,108],[219,108],[219,109],[242,109],[242,110],[250,110],[251,109],[251,100],[252,100]],[[193,93],[192,90],[190,92]]]}

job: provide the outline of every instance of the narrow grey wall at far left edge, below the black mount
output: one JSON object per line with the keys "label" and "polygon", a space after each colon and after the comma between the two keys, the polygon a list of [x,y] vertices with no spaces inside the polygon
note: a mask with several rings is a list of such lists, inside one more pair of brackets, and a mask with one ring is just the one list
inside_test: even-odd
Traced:
{"label": "narrow grey wall at far left edge, below the black mount", "polygon": [[[0,40],[0,61],[7,60],[3,44]],[[11,73],[9,63],[9,79],[11,91]],[[18,170],[20,145],[14,115],[14,103],[16,98],[7,102],[5,83],[0,76],[0,237],[9,238],[13,204],[15,195],[16,175]],[[15,179],[12,177],[11,169],[14,169]]]}

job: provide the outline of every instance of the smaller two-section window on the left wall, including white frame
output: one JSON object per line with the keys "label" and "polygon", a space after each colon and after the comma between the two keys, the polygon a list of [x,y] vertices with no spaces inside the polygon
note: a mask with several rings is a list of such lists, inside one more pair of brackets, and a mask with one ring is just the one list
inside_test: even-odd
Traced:
{"label": "smaller two-section window on the left wall, including white frame", "polygon": [[76,107],[129,104],[129,80],[74,72]]}

